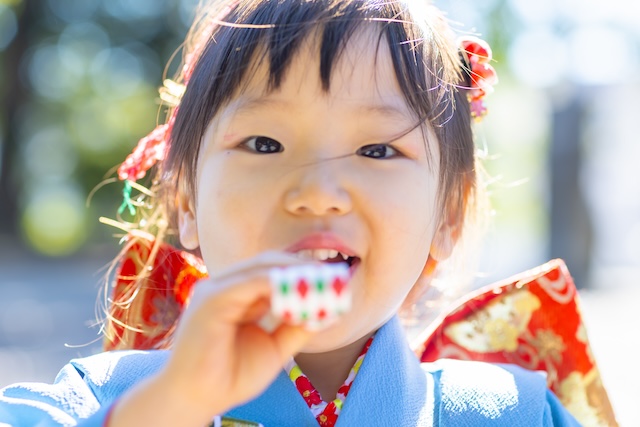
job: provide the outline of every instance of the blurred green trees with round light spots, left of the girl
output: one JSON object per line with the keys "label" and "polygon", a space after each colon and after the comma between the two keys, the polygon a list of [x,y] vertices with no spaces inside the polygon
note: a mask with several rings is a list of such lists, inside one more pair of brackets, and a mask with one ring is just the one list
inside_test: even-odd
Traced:
{"label": "blurred green trees with round light spots, left of the girl", "polygon": [[121,186],[101,190],[92,209],[84,201],[162,119],[156,89],[197,0],[10,3],[18,19],[0,47],[0,233],[64,255],[110,234],[93,226],[95,211],[113,214]]}

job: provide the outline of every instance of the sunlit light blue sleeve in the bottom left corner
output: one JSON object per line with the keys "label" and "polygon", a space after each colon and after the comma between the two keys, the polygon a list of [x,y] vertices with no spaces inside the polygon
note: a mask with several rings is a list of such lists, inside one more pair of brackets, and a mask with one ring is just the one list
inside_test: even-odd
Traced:
{"label": "sunlit light blue sleeve in the bottom left corner", "polygon": [[0,390],[0,426],[102,426],[110,405],[100,402],[72,365],[53,384],[18,383]]}

